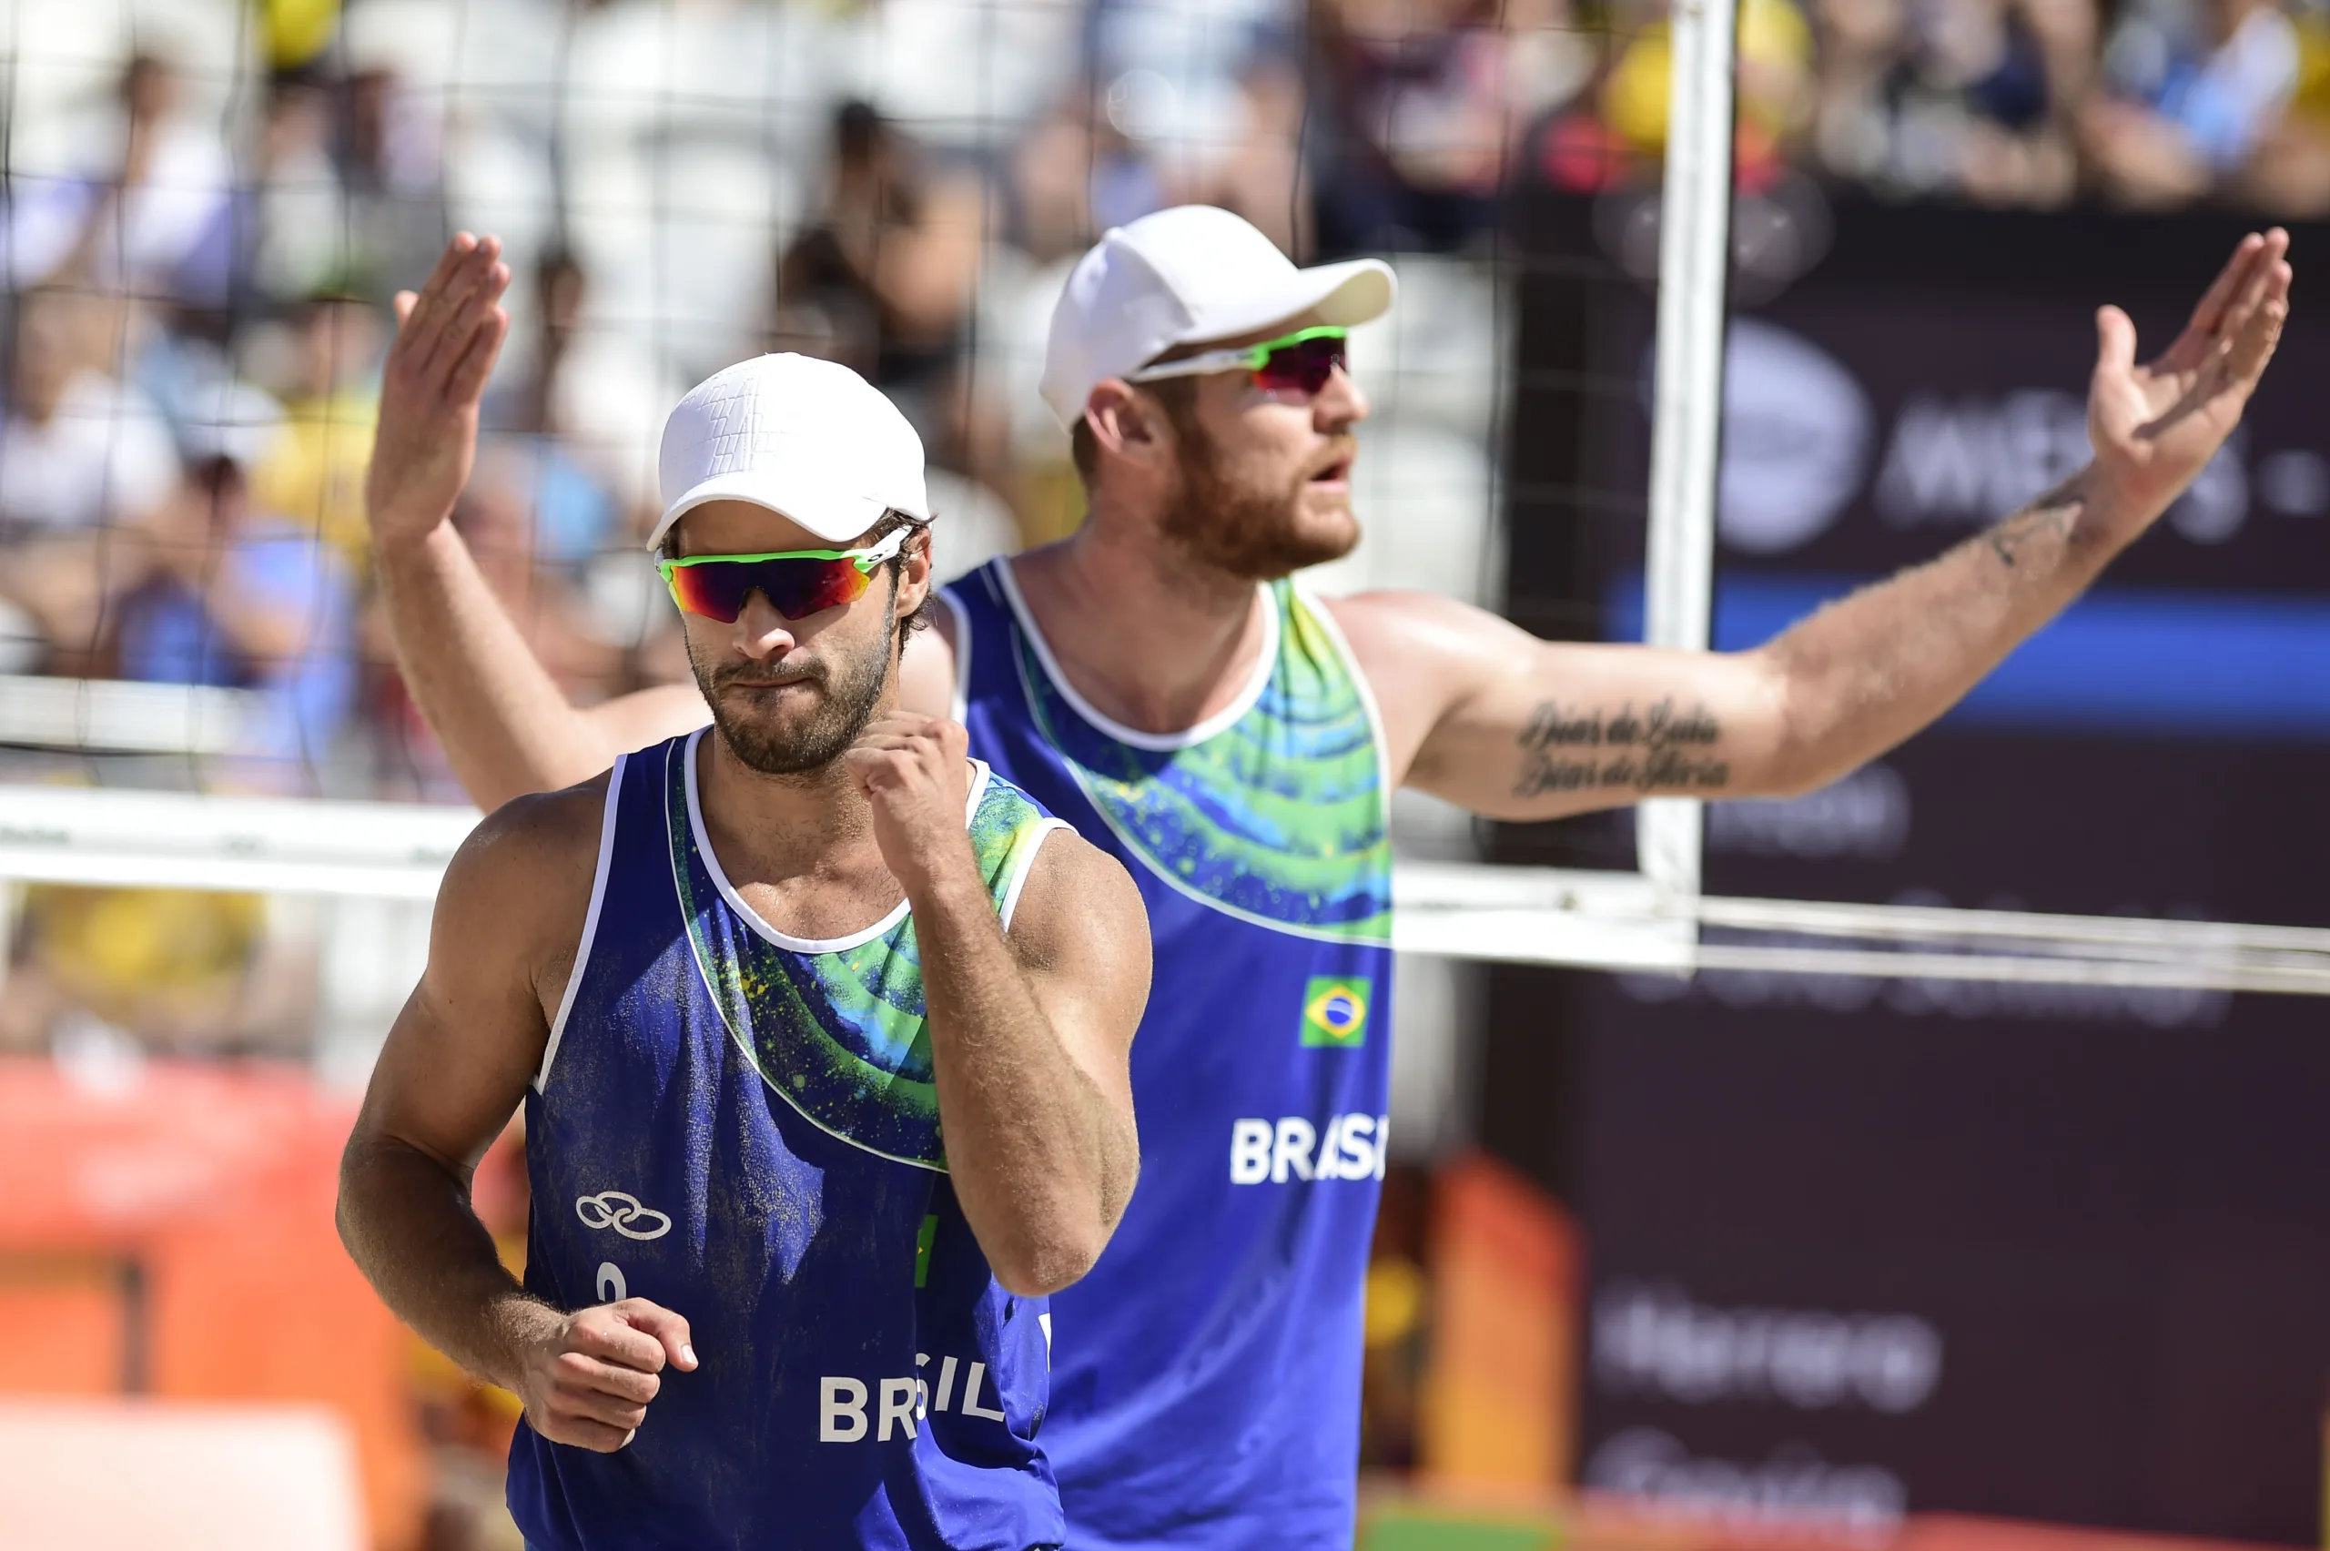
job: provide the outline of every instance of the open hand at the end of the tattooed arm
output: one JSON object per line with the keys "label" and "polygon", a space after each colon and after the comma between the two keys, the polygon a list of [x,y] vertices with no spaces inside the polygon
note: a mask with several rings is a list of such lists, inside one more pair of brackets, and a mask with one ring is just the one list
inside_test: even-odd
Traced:
{"label": "open hand at the end of the tattooed arm", "polygon": [[2088,440],[2116,522],[2134,536],[2216,456],[2274,359],[2290,314],[2290,233],[2251,233],[2193,307],[2176,342],[2137,366],[2137,326],[2095,314]]}

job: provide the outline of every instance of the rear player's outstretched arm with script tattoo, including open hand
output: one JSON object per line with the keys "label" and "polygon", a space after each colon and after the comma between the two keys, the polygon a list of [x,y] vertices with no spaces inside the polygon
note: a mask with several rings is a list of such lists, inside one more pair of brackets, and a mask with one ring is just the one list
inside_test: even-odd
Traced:
{"label": "rear player's outstretched arm with script tattoo, including open hand", "polygon": [[2241,419],[2288,314],[2288,235],[2246,238],[2169,349],[2097,314],[2095,461],[1936,561],[1752,652],[1538,640],[1419,594],[1335,605],[1405,780],[1489,817],[1652,794],[1824,785],[1955,706],[2193,482]]}

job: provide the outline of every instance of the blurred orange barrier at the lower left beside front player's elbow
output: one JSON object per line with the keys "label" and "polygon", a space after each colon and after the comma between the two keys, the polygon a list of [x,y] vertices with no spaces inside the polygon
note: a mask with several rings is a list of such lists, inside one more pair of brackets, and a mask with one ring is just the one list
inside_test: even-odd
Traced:
{"label": "blurred orange barrier at the lower left beside front player's elbow", "polygon": [[370,1539],[419,1537],[410,1346],[331,1211],[354,1104],[305,1071],[0,1060],[7,1388],[319,1402],[356,1437]]}

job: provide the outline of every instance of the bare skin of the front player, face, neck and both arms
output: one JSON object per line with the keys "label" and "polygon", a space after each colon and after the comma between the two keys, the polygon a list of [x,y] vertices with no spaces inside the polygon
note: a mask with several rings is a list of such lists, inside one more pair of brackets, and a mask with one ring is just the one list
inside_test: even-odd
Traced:
{"label": "bare skin of the front player, face, neck and both arms", "polygon": [[[466,349],[445,361],[438,382],[473,380],[461,377]],[[443,452],[405,473],[450,477]],[[375,466],[375,487],[405,473]],[[753,594],[736,624],[685,619],[722,713],[699,745],[704,829],[736,892],[781,932],[843,936],[902,899],[913,908],[955,1197],[995,1279],[1044,1295],[1093,1265],[1139,1171],[1128,1060],[1149,994],[1149,920],[1123,866],[1055,831],[1011,932],[1000,927],[965,822],[967,734],[897,703],[899,622],[930,594],[923,538],[855,603],[795,622]],[[827,547],[741,501],[690,510],[676,543],[699,554]],[[850,682],[878,682],[855,731],[834,720]],[[843,743],[811,769],[771,771],[769,757],[739,752],[813,748],[818,727],[843,727]],[[687,1320],[643,1297],[536,1299],[496,1260],[468,1185],[541,1071],[576,973],[606,785],[594,776],[503,803],[461,845],[429,969],[340,1169],[340,1237],[389,1306],[520,1395],[536,1432],[596,1451],[631,1439],[666,1367],[697,1367]]]}

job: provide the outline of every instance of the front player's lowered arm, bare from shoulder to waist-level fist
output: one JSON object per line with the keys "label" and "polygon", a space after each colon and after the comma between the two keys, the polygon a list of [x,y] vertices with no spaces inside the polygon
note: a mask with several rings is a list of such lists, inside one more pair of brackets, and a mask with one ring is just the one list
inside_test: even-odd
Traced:
{"label": "front player's lowered arm, bare from shoulder to waist-level fist", "polygon": [[643,1297],[552,1309],[494,1253],[468,1183],[550,1036],[576,969],[603,785],[503,808],[438,890],[429,969],[396,1015],[340,1160],[340,1241],[431,1346],[527,1402],[543,1437],[631,1442],[687,1320]]}

